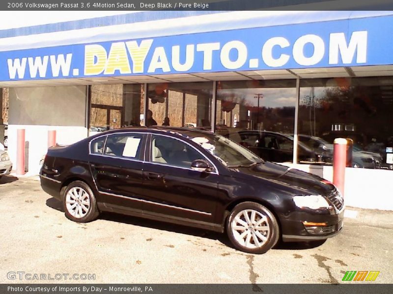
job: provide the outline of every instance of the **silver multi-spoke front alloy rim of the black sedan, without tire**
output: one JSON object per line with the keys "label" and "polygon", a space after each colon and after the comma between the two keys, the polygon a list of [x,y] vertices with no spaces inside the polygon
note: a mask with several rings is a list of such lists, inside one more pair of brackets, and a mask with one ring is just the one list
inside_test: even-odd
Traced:
{"label": "silver multi-spoke front alloy rim of the black sedan, without tire", "polygon": [[268,217],[253,209],[240,211],[231,223],[233,237],[249,249],[262,247],[270,237]]}

